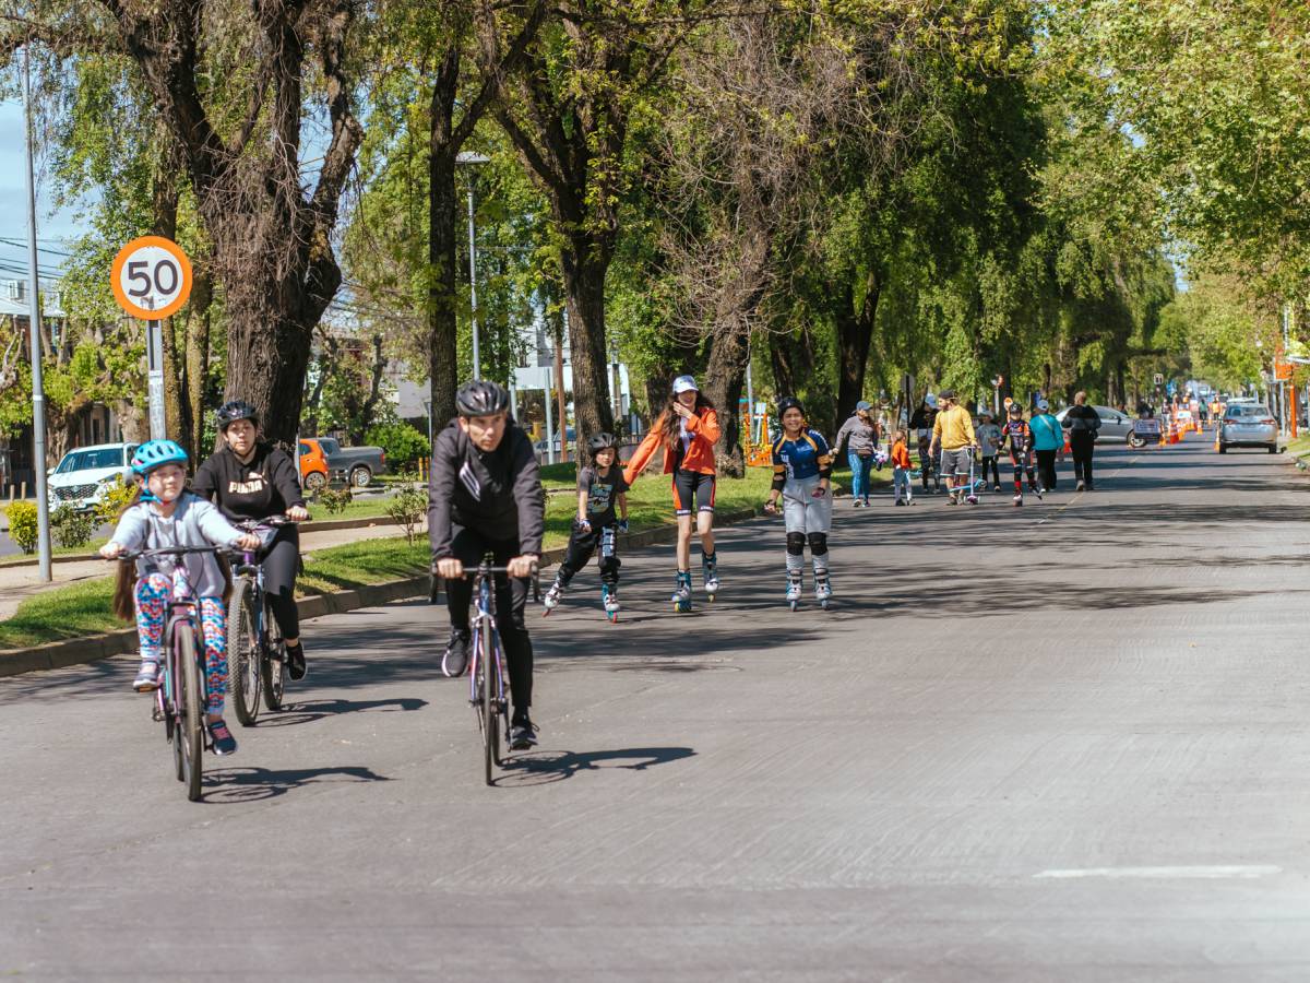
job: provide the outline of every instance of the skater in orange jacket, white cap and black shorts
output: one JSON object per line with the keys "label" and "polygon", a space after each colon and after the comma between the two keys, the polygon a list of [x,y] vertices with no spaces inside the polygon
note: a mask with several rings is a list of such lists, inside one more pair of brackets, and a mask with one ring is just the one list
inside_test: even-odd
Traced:
{"label": "skater in orange jacket, white cap and black shorts", "polygon": [[624,468],[631,488],[664,448],[664,473],[673,478],[673,511],[677,515],[677,585],[675,609],[692,609],[692,515],[701,535],[701,573],[710,600],[719,590],[718,557],[714,553],[714,444],[719,439],[719,414],[689,375],[673,380],[673,393],[655,426],[646,434]]}

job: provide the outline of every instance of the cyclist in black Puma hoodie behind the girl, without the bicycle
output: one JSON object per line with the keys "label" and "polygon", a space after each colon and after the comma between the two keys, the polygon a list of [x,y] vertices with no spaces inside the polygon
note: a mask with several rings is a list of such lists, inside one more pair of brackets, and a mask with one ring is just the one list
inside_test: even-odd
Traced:
{"label": "cyclist in black Puma hoodie behind the girl, without the bicycle", "polygon": [[[296,464],[286,451],[259,439],[259,412],[244,400],[232,400],[219,406],[217,415],[224,446],[196,469],[191,489],[217,503],[229,519],[308,519]],[[304,679],[305,649],[296,611],[300,533],[295,526],[282,526],[265,543],[263,588],[287,645],[287,671],[292,679]]]}

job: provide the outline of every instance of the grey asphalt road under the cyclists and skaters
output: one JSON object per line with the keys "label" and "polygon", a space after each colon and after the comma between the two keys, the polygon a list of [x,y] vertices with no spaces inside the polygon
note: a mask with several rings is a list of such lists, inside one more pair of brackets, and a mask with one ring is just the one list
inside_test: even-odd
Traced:
{"label": "grey asphalt road under the cyclists and skaters", "polygon": [[[200,803],[132,663],[0,680],[0,973],[33,978],[1303,980],[1310,485],[1201,439],[1095,494],[838,510],[534,621],[541,747],[481,780],[423,604],[312,623]],[[807,586],[808,588],[808,586]]]}

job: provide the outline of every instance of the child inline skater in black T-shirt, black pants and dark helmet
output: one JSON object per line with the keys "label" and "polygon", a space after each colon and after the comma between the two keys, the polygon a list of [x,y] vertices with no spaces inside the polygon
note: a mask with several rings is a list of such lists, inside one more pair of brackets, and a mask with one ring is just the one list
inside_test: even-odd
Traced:
{"label": "child inline skater in black T-shirt, black pants and dark helmet", "polygon": [[[616,533],[627,532],[627,482],[618,468],[618,438],[596,434],[590,440],[591,464],[578,472],[578,518],[569,550],[542,604],[549,615],[559,606],[574,575],[600,547],[600,600],[610,620],[618,620],[618,550]],[[614,505],[618,505],[618,518]]]}

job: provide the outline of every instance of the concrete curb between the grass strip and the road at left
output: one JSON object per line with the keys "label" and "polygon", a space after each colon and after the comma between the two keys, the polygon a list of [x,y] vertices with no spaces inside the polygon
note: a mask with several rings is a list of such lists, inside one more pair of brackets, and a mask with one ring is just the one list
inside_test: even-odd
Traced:
{"label": "concrete curb between the grass strip and the road at left", "polygon": [[[731,512],[715,515],[715,527],[734,526],[761,515],[758,507],[736,509]],[[341,527],[356,528],[356,527]],[[620,536],[620,544],[625,549],[641,549],[663,543],[672,543],[677,539],[677,526],[656,526],[641,532],[630,532]],[[548,549],[541,554],[541,566],[553,566],[565,557],[565,547]],[[390,604],[396,600],[410,600],[413,598],[426,598],[431,588],[428,574],[418,577],[405,577],[398,581],[385,581],[383,583],[368,583],[333,594],[313,594],[300,598],[296,608],[304,620],[322,617],[325,615],[343,615],[358,608],[372,608],[381,604]],[[81,666],[89,662],[113,658],[124,653],[135,651],[136,629],[123,628],[106,634],[88,634],[83,638],[68,638],[59,642],[46,642],[30,649],[12,649],[0,651],[0,678],[17,676],[24,672],[41,672],[52,668],[66,668],[68,666]]]}

